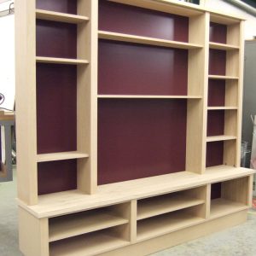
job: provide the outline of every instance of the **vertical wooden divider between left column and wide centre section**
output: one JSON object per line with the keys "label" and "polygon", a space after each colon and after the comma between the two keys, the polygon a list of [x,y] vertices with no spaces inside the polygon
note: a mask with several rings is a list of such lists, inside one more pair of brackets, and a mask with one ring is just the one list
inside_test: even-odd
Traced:
{"label": "vertical wooden divider between left column and wide centre section", "polygon": [[78,25],[78,58],[89,61],[78,66],[77,81],[77,149],[89,154],[78,160],[78,189],[84,194],[96,193],[96,116],[97,116],[97,4],[98,1],[78,0],[78,15],[86,15],[88,22]]}

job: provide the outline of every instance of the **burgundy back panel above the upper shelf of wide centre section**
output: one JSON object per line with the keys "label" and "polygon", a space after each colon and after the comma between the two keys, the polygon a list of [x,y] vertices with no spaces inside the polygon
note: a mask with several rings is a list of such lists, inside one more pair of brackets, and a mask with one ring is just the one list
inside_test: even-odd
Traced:
{"label": "burgundy back panel above the upper shelf of wide centre section", "polygon": [[189,18],[120,3],[99,1],[99,29],[189,42]]}

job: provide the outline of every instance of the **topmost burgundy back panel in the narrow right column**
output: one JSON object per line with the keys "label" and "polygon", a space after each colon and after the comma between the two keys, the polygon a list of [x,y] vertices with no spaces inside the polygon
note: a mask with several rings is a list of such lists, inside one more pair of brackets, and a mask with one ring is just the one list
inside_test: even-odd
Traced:
{"label": "topmost burgundy back panel in the narrow right column", "polygon": [[210,42],[227,44],[227,26],[210,22]]}

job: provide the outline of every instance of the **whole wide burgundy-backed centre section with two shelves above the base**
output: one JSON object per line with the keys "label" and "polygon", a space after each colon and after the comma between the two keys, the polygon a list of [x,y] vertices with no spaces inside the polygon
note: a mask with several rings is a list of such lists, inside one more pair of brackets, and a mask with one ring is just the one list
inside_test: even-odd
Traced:
{"label": "whole wide burgundy-backed centre section with two shelves above the base", "polygon": [[125,3],[99,1],[98,185],[201,173],[207,17]]}

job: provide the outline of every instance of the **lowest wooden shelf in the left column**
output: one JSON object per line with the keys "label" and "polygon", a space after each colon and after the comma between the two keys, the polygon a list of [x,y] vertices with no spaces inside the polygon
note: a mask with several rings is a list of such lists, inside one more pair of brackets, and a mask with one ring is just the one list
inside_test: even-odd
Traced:
{"label": "lowest wooden shelf in the left column", "polygon": [[56,160],[88,158],[88,157],[89,157],[89,154],[84,154],[79,151],[50,153],[50,154],[38,154],[38,163],[47,162],[47,161],[56,161]]}

